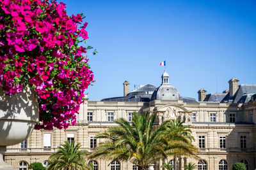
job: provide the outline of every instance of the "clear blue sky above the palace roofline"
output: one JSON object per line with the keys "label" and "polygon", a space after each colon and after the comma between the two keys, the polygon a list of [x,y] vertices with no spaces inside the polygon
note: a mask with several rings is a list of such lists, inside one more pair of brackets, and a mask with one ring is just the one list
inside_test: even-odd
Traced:
{"label": "clear blue sky above the palace roofline", "polygon": [[[58,0],[60,1],[60,0]],[[256,1],[65,0],[84,13],[95,83],[90,100],[123,96],[123,84],[158,87],[166,60],[180,96],[198,99],[228,89],[228,80],[256,84]]]}

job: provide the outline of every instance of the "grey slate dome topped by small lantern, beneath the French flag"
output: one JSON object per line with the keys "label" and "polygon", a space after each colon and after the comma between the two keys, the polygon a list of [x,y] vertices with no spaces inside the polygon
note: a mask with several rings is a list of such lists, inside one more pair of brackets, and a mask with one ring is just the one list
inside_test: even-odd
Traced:
{"label": "grey slate dome topped by small lantern, beneath the French flag", "polygon": [[172,100],[177,101],[180,99],[180,93],[178,90],[170,85],[169,83],[169,74],[166,73],[164,70],[164,73],[162,75],[162,84],[160,87],[158,87],[152,94],[151,100]]}

